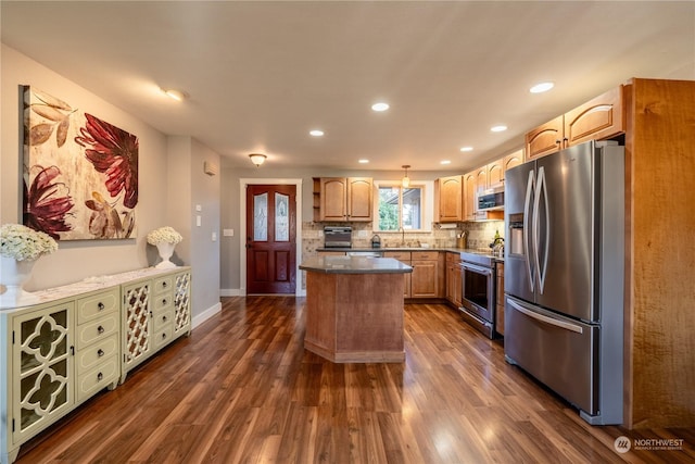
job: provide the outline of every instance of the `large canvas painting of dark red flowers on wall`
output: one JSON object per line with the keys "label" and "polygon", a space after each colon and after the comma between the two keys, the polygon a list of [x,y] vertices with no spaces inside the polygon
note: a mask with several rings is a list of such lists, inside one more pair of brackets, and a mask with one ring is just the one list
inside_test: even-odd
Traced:
{"label": "large canvas painting of dark red flowers on wall", "polygon": [[24,87],[24,224],[56,240],[135,237],[138,138]]}

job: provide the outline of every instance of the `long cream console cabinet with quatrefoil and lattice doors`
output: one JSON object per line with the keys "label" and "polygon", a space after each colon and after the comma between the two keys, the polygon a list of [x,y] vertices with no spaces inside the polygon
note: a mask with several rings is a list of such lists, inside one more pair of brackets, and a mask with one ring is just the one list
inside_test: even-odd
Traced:
{"label": "long cream console cabinet with quatrefoil and lattice doors", "polygon": [[0,309],[0,463],[191,329],[190,267],[87,279]]}

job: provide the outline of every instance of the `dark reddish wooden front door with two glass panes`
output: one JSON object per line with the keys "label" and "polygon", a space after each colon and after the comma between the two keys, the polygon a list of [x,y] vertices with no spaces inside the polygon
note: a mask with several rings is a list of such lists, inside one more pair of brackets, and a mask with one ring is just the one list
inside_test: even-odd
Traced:
{"label": "dark reddish wooden front door with two glass panes", "polygon": [[247,293],[294,293],[296,186],[247,187]]}

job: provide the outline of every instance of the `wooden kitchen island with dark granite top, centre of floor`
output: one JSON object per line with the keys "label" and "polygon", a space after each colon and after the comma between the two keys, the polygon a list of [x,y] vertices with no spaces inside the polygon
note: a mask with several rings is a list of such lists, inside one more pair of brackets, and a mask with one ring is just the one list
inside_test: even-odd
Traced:
{"label": "wooden kitchen island with dark granite top, centre of floor", "polygon": [[392,258],[317,256],[306,271],[304,348],[334,363],[403,362],[403,275]]}

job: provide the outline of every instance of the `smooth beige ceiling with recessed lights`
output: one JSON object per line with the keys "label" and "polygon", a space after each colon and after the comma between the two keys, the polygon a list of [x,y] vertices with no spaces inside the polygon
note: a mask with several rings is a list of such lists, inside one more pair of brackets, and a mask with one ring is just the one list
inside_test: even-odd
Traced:
{"label": "smooth beige ceiling with recessed lights", "polygon": [[231,166],[463,172],[630,77],[695,79],[691,1],[0,5],[4,45]]}

